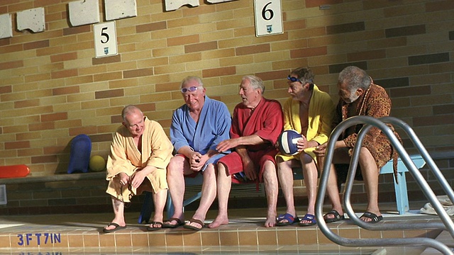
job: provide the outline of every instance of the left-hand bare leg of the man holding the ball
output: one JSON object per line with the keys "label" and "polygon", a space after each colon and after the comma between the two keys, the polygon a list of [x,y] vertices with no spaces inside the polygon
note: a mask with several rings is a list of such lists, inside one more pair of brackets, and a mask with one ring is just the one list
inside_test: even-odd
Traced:
{"label": "left-hand bare leg of the man holding the ball", "polygon": [[[277,158],[277,174],[279,175],[279,183],[281,185],[282,194],[284,195],[285,203],[287,204],[287,213],[297,216],[293,198],[293,171],[291,167],[292,161],[283,162],[280,157]],[[287,222],[287,220],[282,220]]]}

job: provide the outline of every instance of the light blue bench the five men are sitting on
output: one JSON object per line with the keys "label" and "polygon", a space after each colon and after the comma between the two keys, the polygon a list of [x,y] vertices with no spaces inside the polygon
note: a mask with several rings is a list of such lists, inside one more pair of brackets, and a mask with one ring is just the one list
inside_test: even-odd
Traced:
{"label": "light blue bench the five men are sitting on", "polygon": [[[416,168],[421,169],[426,162],[421,157],[421,155],[411,155],[411,161],[415,164]],[[294,180],[302,180],[304,176],[302,174],[301,168],[293,168],[293,179]],[[396,193],[396,203],[397,203],[397,211],[399,214],[404,214],[405,212],[409,211],[409,196],[406,189],[406,178],[405,173],[409,170],[406,168],[402,159],[398,159],[397,162],[397,181],[394,179],[394,189]],[[380,170],[380,174],[394,174],[394,170],[392,169],[392,160],[390,160],[387,164],[385,164],[382,169]],[[203,176],[201,174],[197,175],[196,178],[185,178],[184,179],[186,186],[195,186],[201,185],[203,182]],[[183,209],[184,206],[189,205],[190,203],[198,200],[201,197],[201,192],[196,193],[191,198],[187,198],[183,202]],[[149,222],[150,215],[153,212],[153,203],[152,203],[152,196],[151,193],[145,194],[145,201],[143,203],[142,210],[140,211],[138,222],[139,224],[142,222]],[[174,208],[172,205],[172,198],[170,198],[170,193],[167,195],[167,216],[172,217]]]}

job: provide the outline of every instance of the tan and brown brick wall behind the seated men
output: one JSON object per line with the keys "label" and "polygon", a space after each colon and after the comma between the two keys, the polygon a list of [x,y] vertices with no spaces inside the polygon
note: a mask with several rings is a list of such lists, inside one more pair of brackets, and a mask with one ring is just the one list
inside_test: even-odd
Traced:
{"label": "tan and brown brick wall behind the seated men", "polygon": [[0,14],[13,17],[44,7],[46,22],[43,33],[14,30],[0,40],[0,165],[27,164],[31,176],[65,173],[70,140],[81,133],[92,154],[106,157],[127,104],[168,130],[187,75],[200,76],[232,111],[245,74],[264,79],[265,96],[283,102],[289,71],[310,66],[337,101],[338,72],[350,64],[387,89],[392,115],[429,152],[454,151],[454,1],[282,0],[284,33],[257,38],[252,0],[170,12],[162,0],[137,0],[138,16],[116,21],[118,55],[100,59],[92,25],[70,26],[68,2],[0,2]]}

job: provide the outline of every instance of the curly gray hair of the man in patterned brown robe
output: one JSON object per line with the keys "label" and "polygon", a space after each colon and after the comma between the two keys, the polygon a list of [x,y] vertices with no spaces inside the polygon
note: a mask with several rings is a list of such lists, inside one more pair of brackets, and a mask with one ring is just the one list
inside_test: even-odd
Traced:
{"label": "curly gray hair of the man in patterned brown robe", "polygon": [[347,84],[347,89],[350,92],[357,91],[358,89],[367,90],[372,82],[369,75],[359,67],[345,67],[339,73],[338,84]]}

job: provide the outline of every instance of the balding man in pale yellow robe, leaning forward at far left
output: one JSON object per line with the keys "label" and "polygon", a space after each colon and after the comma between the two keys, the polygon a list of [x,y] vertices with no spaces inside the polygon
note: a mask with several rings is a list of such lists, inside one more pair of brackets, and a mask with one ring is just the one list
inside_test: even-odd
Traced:
{"label": "balding man in pale yellow robe, leaning forward at far left", "polygon": [[116,130],[107,159],[109,186],[115,217],[104,232],[126,228],[124,205],[142,191],[153,192],[155,215],[149,231],[162,227],[167,198],[166,167],[173,146],[161,125],[148,120],[136,106],[126,106],[121,113],[123,125]]}

